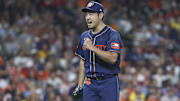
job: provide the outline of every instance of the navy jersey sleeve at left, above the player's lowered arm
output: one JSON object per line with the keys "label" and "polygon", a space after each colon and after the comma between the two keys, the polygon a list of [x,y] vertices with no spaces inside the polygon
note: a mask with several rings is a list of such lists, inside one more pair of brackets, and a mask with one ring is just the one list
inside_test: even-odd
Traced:
{"label": "navy jersey sleeve at left, above the player's lowered arm", "polygon": [[77,46],[75,55],[79,56],[81,59],[85,60],[84,53],[83,53],[83,40],[82,37],[80,38],[79,44]]}

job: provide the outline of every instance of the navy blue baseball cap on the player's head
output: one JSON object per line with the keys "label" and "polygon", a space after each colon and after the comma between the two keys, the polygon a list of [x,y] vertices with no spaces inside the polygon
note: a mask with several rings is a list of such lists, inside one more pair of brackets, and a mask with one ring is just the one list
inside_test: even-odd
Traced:
{"label": "navy blue baseball cap on the player's head", "polygon": [[91,1],[87,4],[86,8],[82,9],[82,12],[87,12],[87,11],[93,11],[93,12],[98,12],[98,13],[104,13],[104,7],[102,4]]}

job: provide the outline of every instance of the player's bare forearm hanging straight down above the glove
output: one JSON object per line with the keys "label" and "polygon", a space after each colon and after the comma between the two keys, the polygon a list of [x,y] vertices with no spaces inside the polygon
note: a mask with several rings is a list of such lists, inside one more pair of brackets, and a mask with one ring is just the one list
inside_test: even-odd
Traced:
{"label": "player's bare forearm hanging straight down above the glove", "polygon": [[78,81],[78,86],[81,86],[81,87],[83,86],[84,77],[85,77],[84,61],[81,59],[81,60],[80,60],[80,68],[79,68],[79,81]]}

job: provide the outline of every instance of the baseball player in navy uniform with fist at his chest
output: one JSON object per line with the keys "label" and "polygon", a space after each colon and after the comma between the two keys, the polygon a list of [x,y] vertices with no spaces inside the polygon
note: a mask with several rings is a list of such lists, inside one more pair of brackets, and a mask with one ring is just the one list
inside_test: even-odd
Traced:
{"label": "baseball player in navy uniform with fist at his chest", "polygon": [[104,7],[100,3],[91,1],[82,12],[89,30],[82,33],[76,50],[81,59],[73,95],[83,93],[83,101],[118,101],[120,34],[104,24]]}

